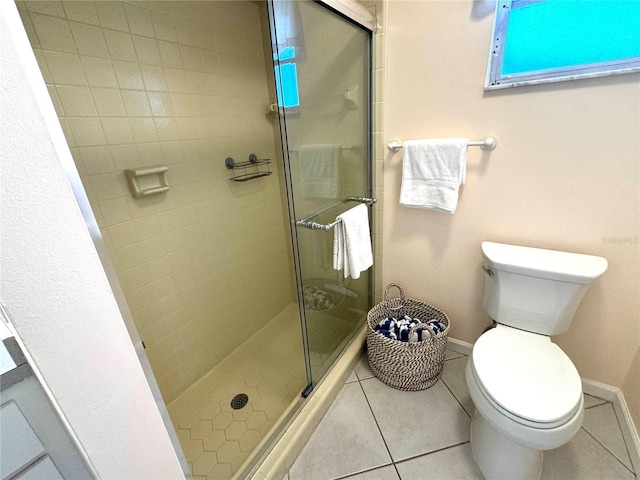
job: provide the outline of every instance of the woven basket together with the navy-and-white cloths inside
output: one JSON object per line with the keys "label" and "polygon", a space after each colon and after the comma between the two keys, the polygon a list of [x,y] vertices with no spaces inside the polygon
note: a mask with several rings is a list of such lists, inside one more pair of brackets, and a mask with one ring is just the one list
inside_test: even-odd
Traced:
{"label": "woven basket together with the navy-and-white cloths inside", "polygon": [[[389,299],[393,287],[400,298]],[[390,283],[384,301],[367,314],[367,355],[373,374],[398,390],[431,387],[442,374],[449,326],[444,312],[406,298],[399,285]]]}

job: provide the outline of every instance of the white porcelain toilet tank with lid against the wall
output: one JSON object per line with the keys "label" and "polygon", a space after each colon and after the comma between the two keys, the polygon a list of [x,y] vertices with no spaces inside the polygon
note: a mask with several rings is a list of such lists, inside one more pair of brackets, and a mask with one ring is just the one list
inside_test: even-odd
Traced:
{"label": "white porcelain toilet tank with lid against the wall", "polygon": [[484,310],[496,322],[542,335],[558,335],[591,282],[607,270],[602,257],[482,242]]}

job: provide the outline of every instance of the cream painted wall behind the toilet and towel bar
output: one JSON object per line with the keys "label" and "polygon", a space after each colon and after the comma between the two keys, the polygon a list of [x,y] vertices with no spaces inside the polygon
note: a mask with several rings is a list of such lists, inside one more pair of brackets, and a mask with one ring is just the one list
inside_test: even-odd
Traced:
{"label": "cream painted wall behind the toilet and towel bar", "polygon": [[469,148],[455,215],[399,206],[401,155],[387,155],[383,284],[441,307],[451,336],[474,342],[490,323],[483,240],[603,256],[608,271],[554,340],[583,377],[623,387],[640,344],[640,75],[484,92],[493,4],[387,4],[386,141],[492,134],[498,146]]}

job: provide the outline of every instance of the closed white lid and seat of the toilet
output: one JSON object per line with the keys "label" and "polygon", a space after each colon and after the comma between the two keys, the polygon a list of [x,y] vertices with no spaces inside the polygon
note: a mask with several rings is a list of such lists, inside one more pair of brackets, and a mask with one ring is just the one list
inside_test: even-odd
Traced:
{"label": "closed white lid and seat of the toilet", "polygon": [[518,423],[554,428],[580,409],[580,375],[547,336],[498,325],[476,341],[470,360],[487,400]]}

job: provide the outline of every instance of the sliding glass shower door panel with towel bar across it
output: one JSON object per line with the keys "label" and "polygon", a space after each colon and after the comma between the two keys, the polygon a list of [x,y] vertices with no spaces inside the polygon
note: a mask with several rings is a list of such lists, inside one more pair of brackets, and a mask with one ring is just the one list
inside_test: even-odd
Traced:
{"label": "sliding glass shower door panel with towel bar across it", "polygon": [[372,204],[371,33],[312,1],[274,0],[270,10],[298,299],[315,384],[371,306],[372,269],[357,279],[334,269],[331,226],[358,203]]}

